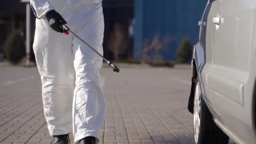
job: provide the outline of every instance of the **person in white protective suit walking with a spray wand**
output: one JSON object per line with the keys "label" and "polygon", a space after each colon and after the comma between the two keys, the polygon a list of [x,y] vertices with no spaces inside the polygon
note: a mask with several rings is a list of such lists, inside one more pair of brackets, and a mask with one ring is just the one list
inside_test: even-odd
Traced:
{"label": "person in white protective suit walking with a spray wand", "polygon": [[104,121],[102,59],[60,27],[67,24],[103,54],[101,0],[30,0],[36,17],[33,49],[42,80],[43,108],[55,144],[97,144]]}

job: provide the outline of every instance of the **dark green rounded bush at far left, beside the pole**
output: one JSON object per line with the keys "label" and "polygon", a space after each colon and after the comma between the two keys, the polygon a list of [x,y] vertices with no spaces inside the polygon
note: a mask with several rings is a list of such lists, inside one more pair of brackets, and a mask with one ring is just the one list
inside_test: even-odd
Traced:
{"label": "dark green rounded bush at far left, beside the pole", "polygon": [[24,42],[21,30],[15,30],[7,37],[3,52],[7,60],[12,64],[17,64],[26,55]]}

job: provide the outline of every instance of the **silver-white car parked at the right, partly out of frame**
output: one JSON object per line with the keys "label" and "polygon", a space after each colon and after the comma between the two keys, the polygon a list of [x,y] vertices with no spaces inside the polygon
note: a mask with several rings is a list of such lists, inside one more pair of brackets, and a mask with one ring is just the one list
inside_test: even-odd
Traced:
{"label": "silver-white car parked at the right, partly out of frame", "polygon": [[256,0],[209,0],[192,59],[196,144],[256,144]]}

